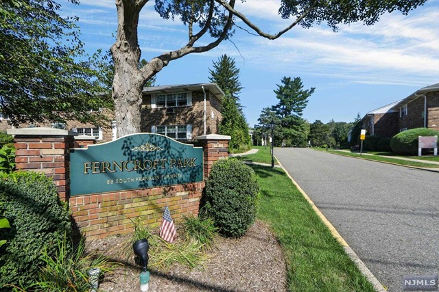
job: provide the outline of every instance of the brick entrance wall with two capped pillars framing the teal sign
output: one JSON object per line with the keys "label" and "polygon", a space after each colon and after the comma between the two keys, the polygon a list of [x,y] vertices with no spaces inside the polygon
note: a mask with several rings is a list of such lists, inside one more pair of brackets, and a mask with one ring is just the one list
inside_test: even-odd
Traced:
{"label": "brick entrance wall with two capped pillars framing the teal sign", "polygon": [[[10,129],[8,133],[15,135],[16,168],[53,178],[60,198],[69,202],[74,224],[88,239],[130,233],[132,218],[139,216],[144,224],[158,226],[165,206],[175,222],[183,215],[198,214],[204,182],[70,197],[69,153],[77,133],[51,128]],[[227,157],[230,137],[196,139],[204,146],[206,178],[213,163]]]}

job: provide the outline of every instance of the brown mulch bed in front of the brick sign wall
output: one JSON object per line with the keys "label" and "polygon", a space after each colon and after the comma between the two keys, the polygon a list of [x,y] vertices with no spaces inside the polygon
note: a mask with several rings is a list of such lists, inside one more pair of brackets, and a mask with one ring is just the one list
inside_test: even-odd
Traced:
{"label": "brown mulch bed in front of the brick sign wall", "polygon": [[[113,261],[126,263],[120,250],[126,236],[108,237],[91,241],[88,250],[97,250]],[[218,237],[215,248],[209,252],[211,260],[204,270],[189,270],[173,265],[168,271],[151,270],[149,291],[286,291],[286,268],[281,247],[269,228],[256,222],[244,237]],[[100,283],[102,291],[140,291],[141,268],[133,258]]]}

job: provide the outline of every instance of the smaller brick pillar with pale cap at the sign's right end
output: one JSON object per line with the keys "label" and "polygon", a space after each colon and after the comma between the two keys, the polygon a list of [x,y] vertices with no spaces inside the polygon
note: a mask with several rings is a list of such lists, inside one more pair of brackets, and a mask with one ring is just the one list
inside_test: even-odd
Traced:
{"label": "smaller brick pillar with pale cap at the sign's right end", "polygon": [[204,159],[204,178],[209,177],[212,165],[219,159],[226,159],[228,157],[228,142],[230,136],[209,134],[195,137],[203,147]]}

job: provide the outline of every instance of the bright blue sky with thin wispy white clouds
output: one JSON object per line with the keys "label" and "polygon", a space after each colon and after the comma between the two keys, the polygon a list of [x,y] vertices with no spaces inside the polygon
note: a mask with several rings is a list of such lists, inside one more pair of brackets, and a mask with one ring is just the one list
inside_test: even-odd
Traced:
{"label": "bright blue sky with thin wispy white clouds", "polygon": [[[60,3],[62,15],[80,18],[78,25],[88,53],[110,48],[117,30],[114,0]],[[279,0],[237,3],[238,10],[268,32],[275,33],[288,24],[277,14]],[[295,27],[278,40],[237,29],[232,41],[171,62],[158,73],[156,85],[209,82],[212,62],[226,53],[235,58],[241,70],[241,104],[252,127],[264,107],[277,103],[273,90],[284,76],[300,77],[305,89],[316,88],[303,113],[309,122],[352,122],[357,113],[364,116],[419,88],[439,83],[439,0],[427,1],[408,16],[385,14],[369,27],[344,25],[337,33],[324,24],[311,29]],[[154,11],[154,1],[145,5],[139,21],[142,58],[150,60],[186,42],[187,27],[178,20],[161,19]]]}

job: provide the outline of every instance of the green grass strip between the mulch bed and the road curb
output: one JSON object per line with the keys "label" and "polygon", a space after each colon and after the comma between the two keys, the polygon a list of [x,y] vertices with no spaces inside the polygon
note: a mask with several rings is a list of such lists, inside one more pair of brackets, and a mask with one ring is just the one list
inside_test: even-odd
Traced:
{"label": "green grass strip between the mulch bed and the road curb", "polygon": [[285,254],[288,291],[375,291],[287,174],[251,167],[261,185],[258,217],[271,226]]}

